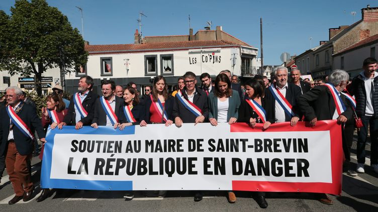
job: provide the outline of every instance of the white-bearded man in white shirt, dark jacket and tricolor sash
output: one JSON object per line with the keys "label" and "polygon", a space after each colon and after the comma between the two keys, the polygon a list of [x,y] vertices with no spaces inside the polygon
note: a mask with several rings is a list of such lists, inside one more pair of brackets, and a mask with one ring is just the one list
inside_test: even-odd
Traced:
{"label": "white-bearded man in white shirt, dark jacket and tricolor sash", "polygon": [[[291,125],[295,126],[301,117],[296,108],[296,99],[302,95],[301,88],[294,84],[288,83],[288,68],[286,67],[276,68],[274,71],[274,78],[275,83],[269,88],[265,89],[265,105],[267,107],[271,107],[267,109],[269,112],[266,114],[266,118],[270,123],[290,121]],[[288,100],[292,106],[291,114],[289,114],[288,111],[282,107],[280,102],[276,101],[274,98],[276,95],[273,95],[272,93],[274,90],[281,93],[282,96]]]}

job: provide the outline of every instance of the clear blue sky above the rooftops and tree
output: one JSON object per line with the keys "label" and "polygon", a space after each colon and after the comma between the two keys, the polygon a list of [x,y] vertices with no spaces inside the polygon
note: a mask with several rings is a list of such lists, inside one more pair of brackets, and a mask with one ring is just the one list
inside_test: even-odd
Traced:
{"label": "clear blue sky above the rooftops and tree", "polygon": [[[318,0],[318,1],[247,1],[247,0],[48,0],[66,15],[72,26],[81,31],[81,15],[75,6],[83,9],[84,39],[90,44],[134,43],[139,12],[144,36],[187,35],[188,15],[196,33],[204,29],[207,21],[212,29],[222,26],[223,31],[260,49],[260,17],[263,21],[264,65],[279,65],[283,52],[301,54],[328,40],[328,29],[351,25],[361,19],[366,5],[378,7],[378,1]],[[1,0],[0,10],[10,14],[14,0]],[[344,13],[345,11],[345,13]],[[259,50],[260,55],[260,50]]]}

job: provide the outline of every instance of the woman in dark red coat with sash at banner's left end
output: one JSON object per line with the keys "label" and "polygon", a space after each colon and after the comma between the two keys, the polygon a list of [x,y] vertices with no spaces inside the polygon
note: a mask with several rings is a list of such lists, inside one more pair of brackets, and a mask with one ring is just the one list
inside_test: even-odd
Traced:
{"label": "woman in dark red coat with sash at banner's left end", "polygon": [[[63,102],[62,97],[57,93],[52,93],[46,97],[46,107],[42,107],[42,126],[47,129],[50,125],[51,129],[55,129],[60,122],[63,121],[64,116],[67,115],[68,109]],[[45,144],[42,144],[39,158],[42,160],[43,150]],[[43,188],[41,195],[37,201],[43,201],[51,195],[49,188]]]}

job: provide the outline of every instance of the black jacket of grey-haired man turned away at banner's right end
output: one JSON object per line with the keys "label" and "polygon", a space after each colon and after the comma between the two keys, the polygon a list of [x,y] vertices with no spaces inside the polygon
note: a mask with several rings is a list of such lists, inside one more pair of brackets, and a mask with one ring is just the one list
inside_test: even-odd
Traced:
{"label": "black jacket of grey-haired man turned away at banner's right end", "polygon": [[[350,103],[341,95],[346,110],[342,113],[348,120],[352,118]],[[298,108],[305,115],[306,121],[314,118],[321,120],[332,120],[336,109],[331,91],[326,86],[316,86],[311,91],[303,94],[297,99]]]}

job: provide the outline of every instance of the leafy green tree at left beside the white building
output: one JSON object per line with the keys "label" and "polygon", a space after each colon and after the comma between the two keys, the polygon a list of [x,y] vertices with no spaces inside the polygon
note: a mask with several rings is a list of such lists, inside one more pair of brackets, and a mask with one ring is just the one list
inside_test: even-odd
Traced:
{"label": "leafy green tree at left beside the white building", "polygon": [[87,59],[79,31],[45,0],[17,0],[11,16],[0,11],[0,71],[22,76],[34,73],[39,95],[42,73],[55,67],[78,67]]}

